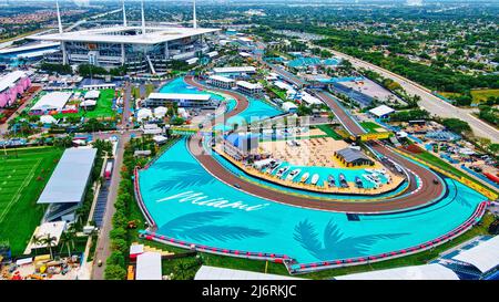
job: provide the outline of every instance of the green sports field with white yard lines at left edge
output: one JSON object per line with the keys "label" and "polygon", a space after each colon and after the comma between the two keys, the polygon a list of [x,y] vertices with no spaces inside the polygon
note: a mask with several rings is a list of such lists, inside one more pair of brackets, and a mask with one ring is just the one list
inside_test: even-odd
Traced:
{"label": "green sports field with white yard lines at left edge", "polygon": [[43,217],[37,199],[62,155],[54,147],[0,150],[0,241],[8,240],[12,254],[22,254]]}

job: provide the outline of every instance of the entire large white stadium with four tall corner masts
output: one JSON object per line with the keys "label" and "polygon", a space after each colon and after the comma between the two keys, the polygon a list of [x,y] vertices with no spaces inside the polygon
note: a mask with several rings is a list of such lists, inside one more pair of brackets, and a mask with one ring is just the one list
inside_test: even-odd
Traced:
{"label": "entire large white stadium with four tall corner masts", "polygon": [[143,2],[142,25],[128,25],[123,1],[123,24],[63,32],[58,4],[59,32],[29,38],[61,43],[59,52],[45,56],[49,63],[92,64],[105,69],[126,65],[129,72],[164,72],[169,61],[187,61],[210,52],[205,37],[218,29],[198,28],[195,1],[193,7],[192,28],[146,25]]}

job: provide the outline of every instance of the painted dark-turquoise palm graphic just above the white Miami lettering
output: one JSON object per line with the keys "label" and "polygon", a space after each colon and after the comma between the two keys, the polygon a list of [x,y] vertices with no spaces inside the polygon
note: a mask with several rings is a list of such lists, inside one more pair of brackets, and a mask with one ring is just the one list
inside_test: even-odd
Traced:
{"label": "painted dark-turquoise palm graphic just above the white Miami lettering", "polygon": [[156,163],[155,167],[172,171],[167,179],[162,179],[152,187],[153,190],[157,191],[192,188],[214,181],[213,177],[200,169],[197,165],[187,162]]}

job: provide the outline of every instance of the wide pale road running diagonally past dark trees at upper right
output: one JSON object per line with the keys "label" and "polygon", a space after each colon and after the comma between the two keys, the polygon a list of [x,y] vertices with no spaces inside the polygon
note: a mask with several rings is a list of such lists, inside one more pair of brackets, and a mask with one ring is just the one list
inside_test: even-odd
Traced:
{"label": "wide pale road running diagonally past dark trees at upper right", "polygon": [[356,59],[354,56],[347,55],[345,53],[342,53],[342,52],[338,52],[338,51],[335,51],[332,49],[327,49],[327,48],[322,48],[322,49],[328,50],[328,51],[333,52],[334,55],[350,61],[350,63],[356,69],[361,67],[361,69],[366,69],[366,70],[371,70],[371,71],[379,73],[384,77],[391,79],[391,80],[398,82],[403,86],[403,88],[406,90],[406,92],[408,94],[419,95],[421,97],[421,101],[418,103],[419,106],[427,110],[431,114],[441,116],[441,117],[456,117],[461,121],[465,121],[470,125],[475,135],[480,136],[480,137],[490,138],[492,140],[492,143],[499,143],[499,131],[497,128],[490,126],[489,124],[480,121],[478,117],[473,116],[471,114],[470,110],[456,107],[456,106],[438,98],[437,96],[432,95],[430,90],[428,90],[428,88],[419,85],[418,83],[413,82],[404,76],[393,73],[388,70],[385,70],[385,69],[374,65],[371,63],[361,61],[359,59]]}

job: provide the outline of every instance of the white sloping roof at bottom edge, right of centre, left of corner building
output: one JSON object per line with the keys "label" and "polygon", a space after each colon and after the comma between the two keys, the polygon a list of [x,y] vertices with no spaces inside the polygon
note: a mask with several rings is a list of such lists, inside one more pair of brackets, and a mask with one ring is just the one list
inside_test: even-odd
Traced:
{"label": "white sloping roof at bottom edge, right of centre, left of corner building", "polygon": [[450,269],[438,263],[353,273],[335,277],[336,280],[459,280]]}

